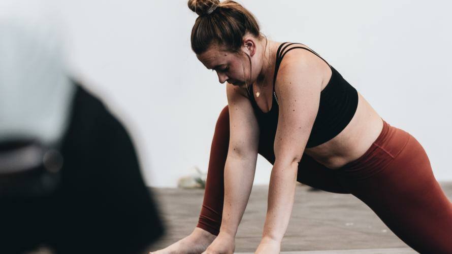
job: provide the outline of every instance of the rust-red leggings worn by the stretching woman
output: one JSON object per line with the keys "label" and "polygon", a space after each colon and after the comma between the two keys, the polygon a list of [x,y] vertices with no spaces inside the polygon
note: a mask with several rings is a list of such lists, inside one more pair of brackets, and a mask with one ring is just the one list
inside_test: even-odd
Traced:
{"label": "rust-red leggings worn by the stretching woman", "polygon": [[[273,146],[260,137],[259,154],[274,163]],[[197,227],[218,235],[223,210],[223,173],[229,146],[229,110],[215,126],[204,202]],[[452,253],[452,203],[436,181],[421,144],[383,121],[369,150],[332,170],[307,154],[298,182],[328,192],[352,194],[366,203],[402,241],[421,253]]]}

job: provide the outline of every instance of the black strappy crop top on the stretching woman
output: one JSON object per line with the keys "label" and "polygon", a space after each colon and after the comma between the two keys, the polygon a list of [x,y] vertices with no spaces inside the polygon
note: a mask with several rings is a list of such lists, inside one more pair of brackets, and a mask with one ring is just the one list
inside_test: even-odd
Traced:
{"label": "black strappy crop top on the stretching woman", "polygon": [[[293,49],[309,50],[320,57],[313,50],[304,47],[296,46],[286,50],[288,46],[293,44],[296,43],[283,43],[279,46],[278,51],[276,52],[275,74],[273,78],[273,102],[269,112],[262,112],[254,99],[252,85],[248,87],[248,97],[250,98],[251,105],[254,108],[257,122],[259,122],[261,135],[265,135],[267,137],[266,139],[268,139],[268,135],[270,135],[273,142],[276,135],[279,112],[279,102],[275,93],[275,81],[282,58],[288,51]],[[325,59],[321,59],[325,61]],[[333,66],[331,66],[327,61],[325,62],[330,66],[332,75],[327,86],[320,92],[317,117],[315,118],[314,125],[312,126],[306,148],[316,147],[338,135],[351,121],[358,107],[357,90],[345,81],[339,72],[333,68]],[[271,143],[271,145],[273,145],[273,143]]]}

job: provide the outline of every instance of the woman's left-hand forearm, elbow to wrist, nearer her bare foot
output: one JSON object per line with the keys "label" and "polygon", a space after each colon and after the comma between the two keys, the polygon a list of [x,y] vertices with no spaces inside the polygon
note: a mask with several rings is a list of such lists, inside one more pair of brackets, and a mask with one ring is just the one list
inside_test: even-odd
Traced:
{"label": "woman's left-hand forearm, elbow to wrist, nearer her bare foot", "polygon": [[235,236],[251,193],[255,156],[239,157],[229,154],[224,166],[224,203],[220,234]]}

